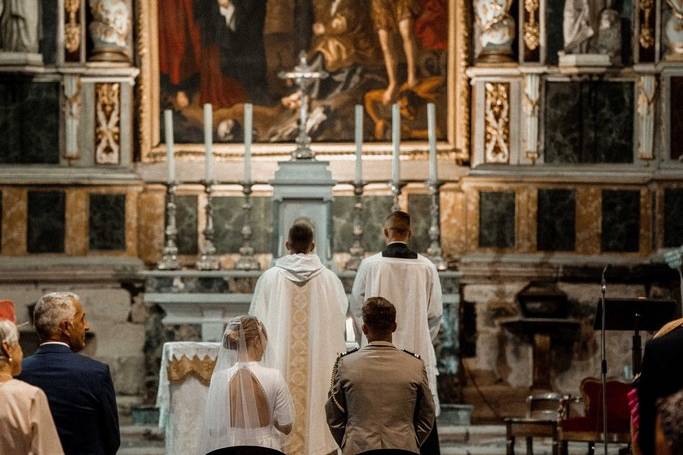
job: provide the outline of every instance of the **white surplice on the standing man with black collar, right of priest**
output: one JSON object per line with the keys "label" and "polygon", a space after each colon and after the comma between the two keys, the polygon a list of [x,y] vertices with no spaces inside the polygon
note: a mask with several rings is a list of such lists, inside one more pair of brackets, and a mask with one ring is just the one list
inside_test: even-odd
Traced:
{"label": "white surplice on the standing man with black collar, right of priest", "polygon": [[[422,255],[417,259],[403,259],[383,257],[379,253],[365,258],[358,267],[351,293],[351,313],[357,333],[362,333],[358,328],[363,324],[363,302],[369,297],[384,297],[396,307],[398,327],[393,343],[419,354],[424,361],[438,415],[436,377],[439,371],[432,342],[439,334],[443,301],[434,263]],[[365,335],[360,344],[367,344]]]}

